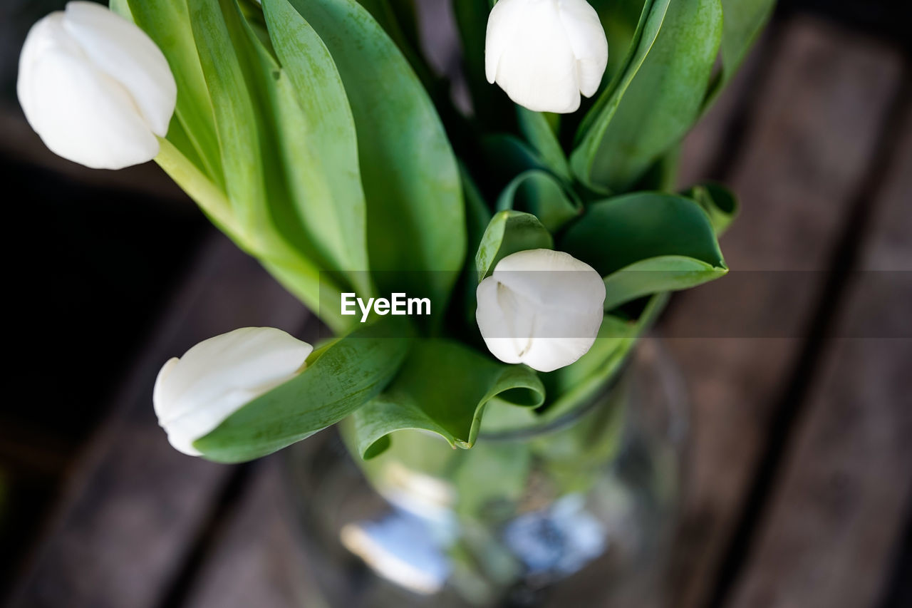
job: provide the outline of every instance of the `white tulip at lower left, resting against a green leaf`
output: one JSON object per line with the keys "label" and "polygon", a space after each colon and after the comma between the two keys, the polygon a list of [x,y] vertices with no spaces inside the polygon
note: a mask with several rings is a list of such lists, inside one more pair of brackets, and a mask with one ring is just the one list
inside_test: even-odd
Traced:
{"label": "white tulip at lower left, resting against a green leaf", "polygon": [[166,362],[152,403],[175,449],[200,456],[193,442],[260,395],[294,378],[314,347],[283,330],[246,327],[204,340]]}

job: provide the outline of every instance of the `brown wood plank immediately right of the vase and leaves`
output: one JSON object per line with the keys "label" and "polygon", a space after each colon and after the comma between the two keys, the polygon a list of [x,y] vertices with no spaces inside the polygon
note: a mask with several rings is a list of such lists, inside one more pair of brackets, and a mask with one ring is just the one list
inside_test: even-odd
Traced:
{"label": "brown wood plank immediately right of the vase and leaves", "polygon": [[[689,496],[673,571],[684,607],[703,605],[715,583],[813,313],[824,276],[814,271],[826,266],[899,78],[895,53],[809,18],[783,24],[764,60],[773,62],[771,79],[756,93],[746,147],[727,179],[743,209],[723,237],[732,273],[679,296],[664,325],[692,397]],[[783,272],[796,270],[805,272]],[[775,338],[764,338],[771,327]]]}

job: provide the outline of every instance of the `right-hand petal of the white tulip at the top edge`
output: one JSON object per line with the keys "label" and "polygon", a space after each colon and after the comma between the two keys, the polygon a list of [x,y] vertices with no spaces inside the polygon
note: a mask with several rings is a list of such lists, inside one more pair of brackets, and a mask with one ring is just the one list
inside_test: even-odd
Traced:
{"label": "right-hand petal of the white tulip at the top edge", "polygon": [[608,41],[596,9],[586,0],[562,0],[560,20],[576,58],[580,91],[592,97],[608,65]]}

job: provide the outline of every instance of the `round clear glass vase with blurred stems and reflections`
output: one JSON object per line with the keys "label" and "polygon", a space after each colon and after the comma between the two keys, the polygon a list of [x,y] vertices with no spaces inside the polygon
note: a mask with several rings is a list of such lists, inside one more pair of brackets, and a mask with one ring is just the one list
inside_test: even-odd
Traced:
{"label": "round clear glass vase with blurred stems and reflections", "polygon": [[345,431],[289,451],[310,565],[326,603],[665,605],[686,435],[660,341],[573,412],[482,431],[469,450],[402,432],[368,461]]}

